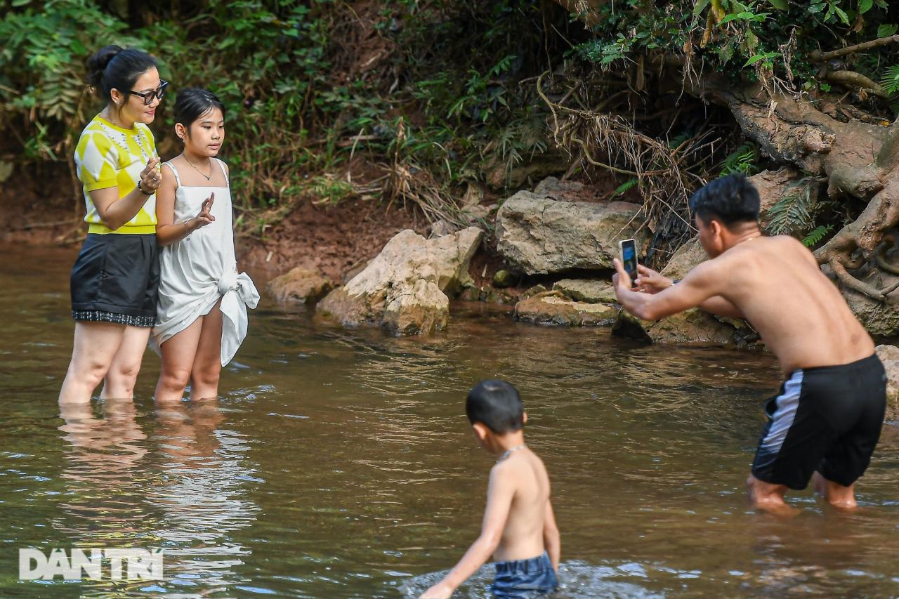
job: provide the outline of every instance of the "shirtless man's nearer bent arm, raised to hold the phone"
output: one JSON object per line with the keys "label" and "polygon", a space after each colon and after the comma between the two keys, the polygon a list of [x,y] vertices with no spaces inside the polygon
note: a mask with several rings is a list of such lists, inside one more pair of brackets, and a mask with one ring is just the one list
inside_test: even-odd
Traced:
{"label": "shirtless man's nearer bent arm, raised to hold the phone", "polygon": [[[658,293],[632,291],[630,277],[618,258],[612,264],[618,271],[612,277],[612,285],[618,296],[619,304],[643,320],[658,320],[686,309],[699,307],[708,299],[720,295],[724,286],[718,276],[720,264],[714,260],[699,264],[684,277],[683,281]],[[713,308],[716,307],[723,308],[720,305],[716,306],[713,302]]]}

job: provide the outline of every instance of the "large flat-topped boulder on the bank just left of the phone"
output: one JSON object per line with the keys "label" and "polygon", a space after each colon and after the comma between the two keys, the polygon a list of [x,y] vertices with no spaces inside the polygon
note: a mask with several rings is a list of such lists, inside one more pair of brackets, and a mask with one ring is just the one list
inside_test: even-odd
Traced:
{"label": "large flat-topped boulder on the bank just left of the phone", "polygon": [[636,237],[637,247],[645,247],[645,228],[637,232],[640,210],[624,201],[557,201],[548,192],[518,192],[497,212],[496,247],[528,274],[610,269],[620,239]]}

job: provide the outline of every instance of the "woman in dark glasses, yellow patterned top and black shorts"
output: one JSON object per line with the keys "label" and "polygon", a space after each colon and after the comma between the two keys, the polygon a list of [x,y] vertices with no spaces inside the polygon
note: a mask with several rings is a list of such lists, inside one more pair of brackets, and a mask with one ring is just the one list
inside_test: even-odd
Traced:
{"label": "woman in dark glasses, yellow patterned top and black shorts", "polygon": [[131,398],[156,320],[159,257],[156,188],[162,181],[147,127],[165,94],[156,59],[104,46],[87,61],[88,83],[106,103],[78,140],[75,163],[88,224],[72,268],[75,343],[60,403]]}

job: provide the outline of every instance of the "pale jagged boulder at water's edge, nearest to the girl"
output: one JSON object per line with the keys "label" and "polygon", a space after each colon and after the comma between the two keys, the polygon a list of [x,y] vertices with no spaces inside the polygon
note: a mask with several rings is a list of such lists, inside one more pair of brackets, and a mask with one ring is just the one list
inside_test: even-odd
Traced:
{"label": "pale jagged boulder at water's edge, nearest to the girl", "polygon": [[468,264],[482,235],[475,227],[433,239],[400,231],[361,273],[331,291],[317,313],[343,326],[380,325],[398,335],[441,330],[447,293],[470,282]]}

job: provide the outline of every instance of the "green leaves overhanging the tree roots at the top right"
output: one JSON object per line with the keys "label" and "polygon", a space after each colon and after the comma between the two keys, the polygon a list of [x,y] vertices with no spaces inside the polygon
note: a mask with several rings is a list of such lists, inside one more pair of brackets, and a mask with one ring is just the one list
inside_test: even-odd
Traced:
{"label": "green leaves overhanging the tree roots at the top right", "polygon": [[[641,57],[660,54],[701,58],[734,80],[775,82],[794,91],[825,89],[825,69],[811,59],[816,50],[836,49],[893,35],[886,0],[680,0],[666,3],[628,0],[609,2],[594,9],[593,37],[577,44],[574,56],[601,68],[628,68]],[[880,46],[881,57],[899,58],[895,47]],[[858,70],[878,78],[882,65],[868,71],[856,68],[859,57],[841,58]],[[889,64],[889,63],[887,63]]]}

